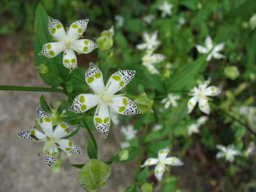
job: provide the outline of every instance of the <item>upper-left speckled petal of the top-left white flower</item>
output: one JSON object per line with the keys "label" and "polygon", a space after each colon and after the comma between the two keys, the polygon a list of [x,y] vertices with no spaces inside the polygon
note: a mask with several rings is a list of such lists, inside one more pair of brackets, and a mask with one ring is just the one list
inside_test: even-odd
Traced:
{"label": "upper-left speckled petal of the top-left white flower", "polygon": [[65,41],[67,34],[61,22],[57,19],[52,19],[49,17],[48,30],[50,34],[60,41]]}

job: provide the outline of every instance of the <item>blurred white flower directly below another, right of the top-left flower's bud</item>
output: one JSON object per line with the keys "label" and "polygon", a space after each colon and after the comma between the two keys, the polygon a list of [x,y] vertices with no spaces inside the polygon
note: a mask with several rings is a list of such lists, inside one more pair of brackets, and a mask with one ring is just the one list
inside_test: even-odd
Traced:
{"label": "blurred white flower directly below another, right of the top-left flower's bud", "polygon": [[157,54],[157,53],[151,53],[147,52],[142,57],[142,65],[147,67],[148,71],[151,74],[159,74],[159,71],[156,69],[156,67],[153,65],[154,63],[162,62],[166,57],[163,54]]}

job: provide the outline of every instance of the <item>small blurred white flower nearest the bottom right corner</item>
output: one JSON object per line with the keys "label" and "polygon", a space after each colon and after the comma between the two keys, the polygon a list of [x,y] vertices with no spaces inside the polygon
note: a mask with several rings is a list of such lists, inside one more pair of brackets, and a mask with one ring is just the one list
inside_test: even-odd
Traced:
{"label": "small blurred white flower nearest the bottom right corner", "polygon": [[227,147],[223,145],[217,145],[217,149],[220,151],[217,153],[216,158],[225,157],[225,160],[231,163],[234,162],[235,155],[242,155],[241,151],[235,150],[234,145],[228,145]]}

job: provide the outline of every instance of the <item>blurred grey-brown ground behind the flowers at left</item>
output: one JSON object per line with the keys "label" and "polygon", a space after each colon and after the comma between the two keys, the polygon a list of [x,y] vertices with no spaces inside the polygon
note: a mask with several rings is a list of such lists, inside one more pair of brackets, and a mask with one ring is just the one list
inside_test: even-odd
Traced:
{"label": "blurred grey-brown ground behind the flowers at left", "polygon": [[[0,39],[4,45],[10,41]],[[3,45],[2,44],[2,45]],[[33,50],[25,57],[11,58],[10,50],[0,47],[0,85],[43,86],[46,84],[39,77],[35,65]],[[61,155],[61,168],[53,173],[47,167],[43,155],[37,156],[42,149],[42,143],[23,140],[18,132],[31,129],[35,124],[36,108],[39,98],[44,94],[46,101],[55,103],[66,98],[60,93],[0,91],[0,191],[84,191],[77,180],[76,169],[70,164],[89,162],[86,153],[86,143],[89,137],[85,129],[71,138],[82,150],[82,155],[68,158]],[[107,161],[119,150],[119,127],[113,127],[107,139],[99,132],[93,132],[99,145],[99,159]],[[133,184],[137,167],[131,164],[111,165],[111,180],[102,191],[124,191]],[[130,178],[130,179],[129,179]]]}

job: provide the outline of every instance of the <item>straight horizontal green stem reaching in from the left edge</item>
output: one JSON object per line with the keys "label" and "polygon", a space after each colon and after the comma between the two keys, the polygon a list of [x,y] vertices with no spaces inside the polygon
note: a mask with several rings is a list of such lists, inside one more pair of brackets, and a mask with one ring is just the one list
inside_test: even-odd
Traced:
{"label": "straight horizontal green stem reaching in from the left edge", "polygon": [[54,92],[54,93],[66,93],[62,89],[53,89],[48,87],[27,87],[27,86],[9,86],[9,85],[0,85],[0,90],[6,91],[42,91],[42,92]]}

